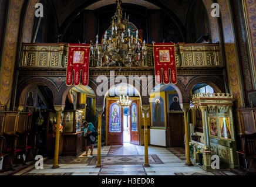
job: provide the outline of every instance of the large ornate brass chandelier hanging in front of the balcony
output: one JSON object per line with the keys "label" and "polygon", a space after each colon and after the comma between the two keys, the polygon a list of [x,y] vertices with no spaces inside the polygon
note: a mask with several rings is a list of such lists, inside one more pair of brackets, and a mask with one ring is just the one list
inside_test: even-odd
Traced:
{"label": "large ornate brass chandelier hanging in front of the balcony", "polygon": [[97,66],[116,65],[121,69],[123,65],[132,67],[140,65],[144,61],[147,49],[145,40],[139,40],[139,32],[136,30],[134,37],[127,24],[129,16],[123,17],[121,8],[122,0],[117,0],[117,10],[112,17],[111,33],[105,32],[102,43],[99,44],[99,36],[96,36],[96,44],[91,47],[91,60],[97,62]]}

